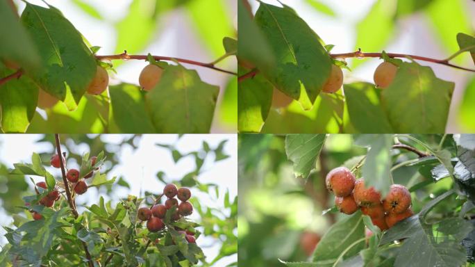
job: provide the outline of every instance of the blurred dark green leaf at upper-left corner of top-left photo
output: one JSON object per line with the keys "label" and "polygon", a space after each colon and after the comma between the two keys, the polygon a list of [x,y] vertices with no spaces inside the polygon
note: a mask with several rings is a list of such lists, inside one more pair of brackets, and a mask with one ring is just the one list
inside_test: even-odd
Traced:
{"label": "blurred dark green leaf at upper-left corner of top-left photo", "polygon": [[26,70],[40,67],[38,51],[8,1],[0,1],[0,36],[0,59],[18,63]]}

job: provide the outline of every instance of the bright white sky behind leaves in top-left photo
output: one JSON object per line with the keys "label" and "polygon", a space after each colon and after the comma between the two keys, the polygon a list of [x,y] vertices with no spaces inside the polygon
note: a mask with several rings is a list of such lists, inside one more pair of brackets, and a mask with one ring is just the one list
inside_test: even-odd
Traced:
{"label": "bright white sky behind leaves in top-left photo", "polygon": [[[63,15],[65,15],[76,29],[85,36],[90,44],[101,47],[97,53],[98,55],[115,54],[117,38],[115,23],[119,22],[127,15],[128,6],[132,0],[83,0],[85,3],[94,6],[94,8],[96,8],[102,15],[103,20],[95,19],[87,13],[84,13],[83,10],[78,8],[74,3],[72,3],[72,1],[46,1],[51,6],[55,6],[61,10]],[[229,17],[233,19],[233,22],[235,22],[235,17],[237,17],[236,4],[233,3],[233,0],[224,1],[229,3],[227,5],[228,14],[230,15]],[[28,2],[45,6],[40,0],[28,0]],[[15,0],[15,3],[17,3],[21,13],[25,4],[19,0]],[[165,15],[165,19],[161,19],[160,22],[165,23],[165,25],[159,26],[162,30],[153,37],[153,42],[151,42],[151,44],[149,44],[141,54],[146,55],[147,53],[150,53],[154,56],[172,56],[176,58],[197,60],[204,63],[209,63],[216,59],[202,43],[201,36],[197,35],[197,31],[195,31],[192,22],[183,9],[178,8],[168,12]],[[235,26],[236,24],[233,23],[233,25]],[[126,47],[124,47],[124,49],[126,49]],[[235,70],[236,63],[235,57],[229,57],[224,60],[223,63],[219,63],[219,67],[232,71]],[[126,63],[116,67],[117,74],[114,74],[113,72],[109,73],[110,83],[126,82],[138,85],[138,76],[146,65],[148,65],[148,63],[145,60],[128,60]],[[219,86],[219,98],[223,96],[222,92],[224,92],[223,90],[226,87],[226,83],[231,77],[230,74],[210,70],[206,67],[198,67],[188,64],[183,65],[189,69],[197,70],[201,79],[206,83]],[[219,104],[217,104],[217,107],[218,106]],[[217,117],[217,113],[215,112],[215,120],[213,120],[211,129],[213,133],[235,132],[236,127],[228,129],[219,126],[216,123]]]}

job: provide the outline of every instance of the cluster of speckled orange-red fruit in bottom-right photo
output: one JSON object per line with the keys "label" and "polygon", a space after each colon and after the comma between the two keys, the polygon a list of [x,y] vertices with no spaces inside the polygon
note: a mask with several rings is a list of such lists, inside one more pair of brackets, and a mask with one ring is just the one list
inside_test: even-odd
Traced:
{"label": "cluster of speckled orange-red fruit in bottom-right photo", "polygon": [[410,209],[408,188],[392,184],[384,199],[373,187],[365,188],[363,178],[355,179],[348,168],[338,167],[326,175],[326,187],[335,194],[335,205],[342,213],[352,214],[361,209],[374,225],[386,230],[414,213]]}

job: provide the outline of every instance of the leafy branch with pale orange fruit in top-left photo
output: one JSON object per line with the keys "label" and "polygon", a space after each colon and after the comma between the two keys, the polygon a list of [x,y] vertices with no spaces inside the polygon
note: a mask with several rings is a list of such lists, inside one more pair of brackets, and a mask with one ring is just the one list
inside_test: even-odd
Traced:
{"label": "leafy branch with pale orange fruit in top-left photo", "polygon": [[[80,3],[81,1],[76,1]],[[140,14],[140,1],[131,4],[131,16]],[[161,2],[161,1],[158,1]],[[163,6],[170,10],[183,3]],[[11,5],[9,5],[11,3]],[[219,87],[201,81],[196,70],[185,65],[235,72],[218,65],[234,56],[237,40],[221,36],[225,54],[213,62],[188,58],[123,53],[100,55],[57,8],[24,1],[19,16],[12,1],[0,3],[0,106],[1,131],[33,133],[208,133],[216,110]],[[207,4],[206,4],[207,5]],[[143,6],[143,5],[142,5]],[[194,12],[194,4],[189,4]],[[88,8],[86,6],[87,10]],[[137,9],[137,10],[136,10]],[[95,14],[95,13],[94,13]],[[153,18],[135,25],[138,17],[126,17],[124,23],[143,28],[142,34],[153,35]],[[158,16],[158,14],[156,14]],[[134,21],[128,21],[128,20]],[[131,45],[126,38],[138,38],[129,28],[118,25],[117,45]],[[226,25],[223,25],[223,27]],[[123,29],[124,28],[124,29]],[[147,29],[147,30],[146,30]],[[213,42],[216,41],[216,38]],[[147,39],[149,40],[149,39]],[[213,44],[216,47],[216,44]],[[115,72],[114,61],[147,60],[139,86],[129,83],[111,84],[108,73]],[[117,63],[118,65],[119,63]],[[183,65],[185,64],[185,65]],[[150,71],[153,68],[153,71]],[[233,79],[231,79],[232,81]],[[107,90],[108,89],[108,90]],[[156,90],[155,90],[156,89]],[[222,90],[224,91],[224,89]],[[46,111],[46,118],[37,112]],[[223,108],[223,112],[228,112]],[[221,115],[219,116],[222,117]],[[75,123],[74,123],[75,122]]]}

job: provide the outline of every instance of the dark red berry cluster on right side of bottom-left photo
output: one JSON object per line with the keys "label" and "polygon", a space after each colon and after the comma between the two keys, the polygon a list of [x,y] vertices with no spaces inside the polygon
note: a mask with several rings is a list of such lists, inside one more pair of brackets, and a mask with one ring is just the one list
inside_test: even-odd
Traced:
{"label": "dark red berry cluster on right side of bottom-left photo", "polygon": [[[174,184],[167,184],[163,188],[163,195],[167,196],[165,204],[156,204],[151,209],[148,207],[142,207],[138,209],[138,218],[142,221],[147,220],[147,229],[150,232],[158,232],[165,228],[163,219],[167,215],[167,211],[172,208],[176,208],[172,214],[172,220],[179,220],[181,216],[190,216],[193,213],[193,205],[188,202],[191,197],[190,189],[182,187],[177,188]],[[178,200],[181,203],[178,204]],[[189,243],[194,243],[194,232],[183,231],[180,229],[181,234],[185,234],[185,238]]]}

